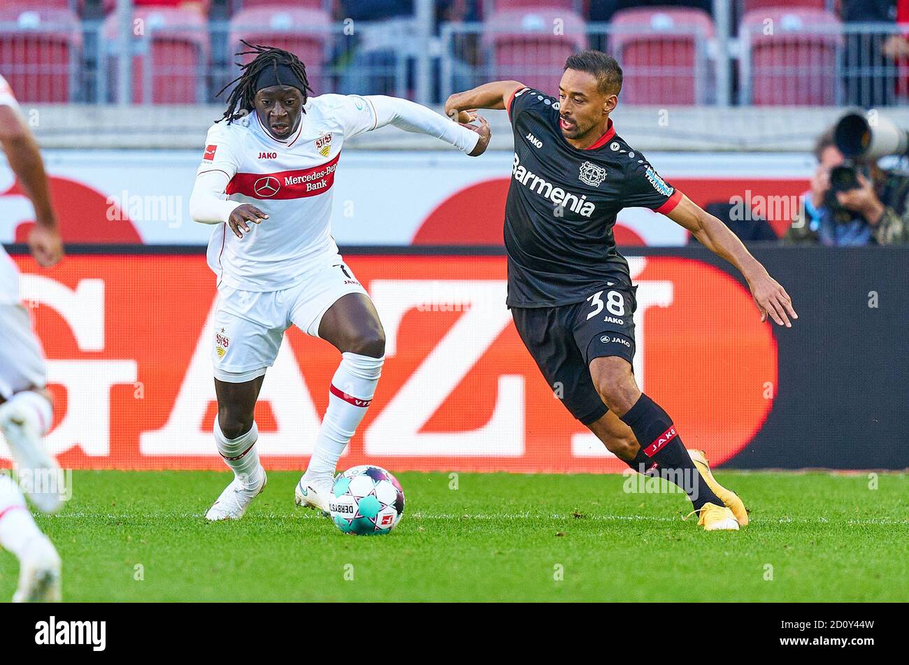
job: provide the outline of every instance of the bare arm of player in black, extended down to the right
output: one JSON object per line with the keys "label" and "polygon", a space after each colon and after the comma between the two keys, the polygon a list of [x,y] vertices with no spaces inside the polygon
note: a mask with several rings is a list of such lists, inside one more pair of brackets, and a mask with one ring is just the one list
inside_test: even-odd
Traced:
{"label": "bare arm of player in black, extended down to the right", "polygon": [[776,323],[792,327],[789,317],[798,318],[792,298],[724,223],[684,195],[667,216],[690,231],[704,247],[739,269],[751,288],[761,321],[766,321],[769,315]]}

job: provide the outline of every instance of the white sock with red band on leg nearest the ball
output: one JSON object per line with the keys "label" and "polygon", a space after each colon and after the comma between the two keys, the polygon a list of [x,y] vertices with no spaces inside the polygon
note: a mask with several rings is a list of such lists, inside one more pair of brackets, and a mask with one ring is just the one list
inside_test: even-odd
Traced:
{"label": "white sock with red band on leg nearest the ball", "polygon": [[306,469],[307,478],[331,477],[338,458],[373,401],[375,384],[385,358],[370,358],[358,353],[341,354],[341,364],[328,390],[328,409],[315,439],[315,451]]}

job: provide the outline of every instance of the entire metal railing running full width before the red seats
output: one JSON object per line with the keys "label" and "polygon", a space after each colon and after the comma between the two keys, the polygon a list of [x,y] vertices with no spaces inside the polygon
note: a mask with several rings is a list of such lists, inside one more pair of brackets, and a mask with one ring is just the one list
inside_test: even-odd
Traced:
{"label": "entire metal railing running full width before the red seats", "polygon": [[435,37],[425,16],[357,22],[354,29],[345,22],[301,28],[278,11],[267,26],[145,20],[142,34],[130,35],[125,56],[125,23],[116,15],[74,23],[26,11],[0,21],[0,74],[25,102],[207,104],[238,74],[239,36],[269,35],[303,57],[316,94],[394,94],[432,104],[502,78],[556,94],[565,57],[590,47],[623,66],[625,104],[909,101],[909,36],[899,26],[841,24],[833,15],[816,25],[797,13],[777,13],[769,33],[765,23],[751,23],[726,37],[699,25],[658,22],[578,21],[560,33],[534,21],[533,12],[521,25],[445,24]]}

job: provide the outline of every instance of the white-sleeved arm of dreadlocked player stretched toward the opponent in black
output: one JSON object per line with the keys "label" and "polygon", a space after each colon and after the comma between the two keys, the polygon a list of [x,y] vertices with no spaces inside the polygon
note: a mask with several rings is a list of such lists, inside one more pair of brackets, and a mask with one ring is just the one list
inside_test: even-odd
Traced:
{"label": "white-sleeved arm of dreadlocked player stretched toward the opponent in black", "polygon": [[475,118],[480,121],[479,125],[452,124],[444,116],[408,99],[388,97],[384,94],[369,94],[365,98],[375,110],[373,129],[391,124],[405,132],[428,134],[445,141],[446,144],[454,145],[471,157],[483,154],[489,145],[492,133],[489,124],[482,117]]}

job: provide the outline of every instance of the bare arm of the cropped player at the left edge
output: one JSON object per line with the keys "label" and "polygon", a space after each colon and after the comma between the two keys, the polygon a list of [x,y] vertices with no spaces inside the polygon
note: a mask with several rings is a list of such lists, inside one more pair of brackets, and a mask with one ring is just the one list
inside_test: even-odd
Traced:
{"label": "bare arm of the cropped player at the left edge", "polygon": [[35,261],[50,267],[63,258],[63,243],[51,205],[45,164],[35,136],[12,106],[0,104],[0,144],[3,144],[9,167],[22,183],[25,195],[35,207],[35,229],[28,244]]}

